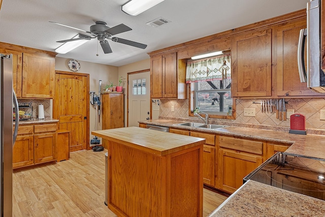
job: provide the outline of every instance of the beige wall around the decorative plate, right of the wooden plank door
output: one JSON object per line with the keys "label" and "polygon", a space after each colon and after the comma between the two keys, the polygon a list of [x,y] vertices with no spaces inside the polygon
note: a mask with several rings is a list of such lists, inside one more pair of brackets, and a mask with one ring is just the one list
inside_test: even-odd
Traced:
{"label": "beige wall around the decorative plate, right of the wooden plank door", "polygon": [[[58,71],[68,71],[71,72],[68,68],[68,62],[70,59],[55,57],[55,70]],[[79,60],[78,60],[79,61]],[[102,90],[106,84],[109,84],[109,81],[118,84],[118,67],[108,66],[103,64],[95,64],[87,61],[79,61],[80,70],[77,73],[89,74],[89,89],[95,91],[99,94],[99,80],[102,80]],[[90,104],[90,95],[89,95],[89,104]],[[89,139],[92,139],[91,131],[95,130],[95,108],[90,105],[89,109]],[[102,115],[100,115],[100,122],[97,123],[97,129],[102,130]],[[100,138],[101,139],[101,138]],[[101,139],[102,142],[102,139]]]}

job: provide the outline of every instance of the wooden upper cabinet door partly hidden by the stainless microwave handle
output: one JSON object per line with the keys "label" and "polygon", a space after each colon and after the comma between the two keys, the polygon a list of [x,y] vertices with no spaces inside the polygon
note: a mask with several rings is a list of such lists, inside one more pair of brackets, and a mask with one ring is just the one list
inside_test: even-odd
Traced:
{"label": "wooden upper cabinet door partly hidden by the stainless microwave handle", "polygon": [[[277,96],[316,96],[316,92],[301,83],[297,63],[300,29],[306,28],[306,19],[281,25],[277,28]],[[305,46],[306,47],[306,46]],[[306,53],[306,52],[305,52]],[[306,59],[306,54],[305,54]],[[305,65],[306,66],[306,65]],[[322,96],[321,94],[318,94]]]}

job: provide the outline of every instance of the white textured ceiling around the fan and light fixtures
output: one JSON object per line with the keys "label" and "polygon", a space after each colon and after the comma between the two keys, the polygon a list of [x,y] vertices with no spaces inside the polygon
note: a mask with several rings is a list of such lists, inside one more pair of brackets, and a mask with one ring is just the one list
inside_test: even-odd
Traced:
{"label": "white textured ceiling around the fan and light fixtures", "polygon": [[[89,30],[94,21],[113,27],[120,23],[133,30],[116,35],[147,44],[146,49],[109,41],[113,53],[104,54],[96,39],[67,54],[74,58],[111,66],[122,66],[149,58],[147,52],[220,33],[235,27],[306,8],[308,0],[165,0],[138,16],[121,11],[128,0],[3,0],[0,10],[0,41],[54,51],[78,30],[55,21]],[[151,27],[147,22],[163,17],[171,22]],[[83,33],[83,32],[80,32]],[[97,51],[98,46],[98,51]],[[99,56],[96,56],[96,54]]]}

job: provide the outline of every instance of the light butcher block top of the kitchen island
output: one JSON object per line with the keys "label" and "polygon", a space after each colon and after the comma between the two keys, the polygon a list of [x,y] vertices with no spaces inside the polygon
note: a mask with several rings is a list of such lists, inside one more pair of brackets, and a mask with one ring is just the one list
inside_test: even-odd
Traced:
{"label": "light butcher block top of the kitchen island", "polygon": [[148,130],[138,127],[92,131],[92,135],[123,143],[158,156],[166,156],[204,143],[205,139]]}

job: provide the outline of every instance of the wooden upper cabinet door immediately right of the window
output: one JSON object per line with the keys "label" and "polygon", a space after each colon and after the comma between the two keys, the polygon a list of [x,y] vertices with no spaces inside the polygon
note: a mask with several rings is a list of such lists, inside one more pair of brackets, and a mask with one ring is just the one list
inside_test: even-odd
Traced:
{"label": "wooden upper cabinet door immediately right of the window", "polygon": [[271,29],[236,37],[232,46],[232,95],[267,97],[272,94]]}

